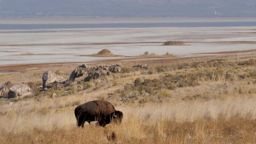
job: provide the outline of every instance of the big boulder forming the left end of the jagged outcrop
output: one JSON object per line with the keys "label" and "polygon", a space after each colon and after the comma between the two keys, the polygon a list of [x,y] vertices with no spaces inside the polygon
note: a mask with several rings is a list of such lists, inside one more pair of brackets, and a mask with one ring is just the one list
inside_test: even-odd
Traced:
{"label": "big boulder forming the left end of the jagged outcrop", "polygon": [[91,66],[87,66],[85,64],[79,65],[69,76],[69,80],[72,82],[80,82],[83,81],[88,76],[88,70]]}

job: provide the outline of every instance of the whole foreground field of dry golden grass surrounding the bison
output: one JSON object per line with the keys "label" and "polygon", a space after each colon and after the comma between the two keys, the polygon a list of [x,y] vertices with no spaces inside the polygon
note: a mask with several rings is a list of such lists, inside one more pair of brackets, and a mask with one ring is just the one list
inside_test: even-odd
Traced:
{"label": "whole foreground field of dry golden grass surrounding the bison", "polygon": [[[21,101],[2,105],[3,143],[108,143],[104,131],[117,134],[118,143],[255,143],[255,97],[210,101],[169,101],[131,107],[121,125],[76,128],[72,96],[59,100]],[[75,99],[75,98],[74,98]],[[59,101],[59,102],[58,102]],[[75,103],[74,103],[75,104]]]}

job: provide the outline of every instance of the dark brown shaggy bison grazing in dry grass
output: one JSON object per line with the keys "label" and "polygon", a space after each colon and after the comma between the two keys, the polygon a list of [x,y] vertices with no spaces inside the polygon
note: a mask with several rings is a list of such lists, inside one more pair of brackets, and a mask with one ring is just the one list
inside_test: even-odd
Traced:
{"label": "dark brown shaggy bison grazing in dry grass", "polygon": [[115,110],[108,101],[89,101],[75,108],[76,125],[84,127],[85,121],[98,121],[100,126],[105,127],[111,121],[120,124],[123,118],[121,111]]}

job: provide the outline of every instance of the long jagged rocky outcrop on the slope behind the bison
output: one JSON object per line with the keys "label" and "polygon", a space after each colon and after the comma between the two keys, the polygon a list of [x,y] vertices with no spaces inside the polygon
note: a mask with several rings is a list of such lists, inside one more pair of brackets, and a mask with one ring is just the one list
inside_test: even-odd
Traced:
{"label": "long jagged rocky outcrop on the slope behind the bison", "polygon": [[79,65],[70,75],[69,80],[72,82],[89,82],[91,79],[98,79],[110,73],[121,72],[121,64],[88,66]]}

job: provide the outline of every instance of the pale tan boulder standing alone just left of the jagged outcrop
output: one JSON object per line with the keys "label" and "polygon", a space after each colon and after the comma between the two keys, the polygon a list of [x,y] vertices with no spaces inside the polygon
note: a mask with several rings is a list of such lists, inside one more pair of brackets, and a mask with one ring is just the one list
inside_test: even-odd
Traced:
{"label": "pale tan boulder standing alone just left of the jagged outcrop", "polygon": [[57,75],[55,72],[49,70],[43,73],[43,88],[49,86],[54,82],[65,82],[67,79],[62,75]]}

